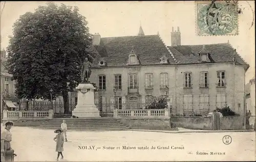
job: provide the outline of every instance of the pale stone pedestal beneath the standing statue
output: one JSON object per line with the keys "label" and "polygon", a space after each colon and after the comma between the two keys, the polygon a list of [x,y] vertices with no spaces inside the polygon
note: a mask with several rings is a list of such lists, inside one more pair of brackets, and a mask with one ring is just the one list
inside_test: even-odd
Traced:
{"label": "pale stone pedestal beneath the standing statue", "polygon": [[94,90],[92,84],[79,84],[76,87],[78,90],[77,105],[72,111],[72,115],[78,118],[100,117],[99,110],[94,104]]}

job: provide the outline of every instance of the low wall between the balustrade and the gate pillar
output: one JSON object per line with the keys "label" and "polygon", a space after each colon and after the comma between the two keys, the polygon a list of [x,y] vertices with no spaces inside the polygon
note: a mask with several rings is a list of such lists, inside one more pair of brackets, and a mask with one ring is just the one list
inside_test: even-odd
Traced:
{"label": "low wall between the balustrade and the gate pillar", "polygon": [[170,120],[177,127],[212,130],[211,117],[171,117]]}

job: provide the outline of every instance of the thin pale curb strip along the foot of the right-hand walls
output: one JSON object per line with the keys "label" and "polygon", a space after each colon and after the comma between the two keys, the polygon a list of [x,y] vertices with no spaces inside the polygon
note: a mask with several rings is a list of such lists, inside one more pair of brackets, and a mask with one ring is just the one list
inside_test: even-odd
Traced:
{"label": "thin pale curb strip along the foot of the right-hand walls", "polygon": [[254,131],[253,129],[250,130],[143,130],[143,129],[129,129],[128,131],[149,131],[149,132],[162,132],[162,133],[221,133],[221,132],[251,132]]}

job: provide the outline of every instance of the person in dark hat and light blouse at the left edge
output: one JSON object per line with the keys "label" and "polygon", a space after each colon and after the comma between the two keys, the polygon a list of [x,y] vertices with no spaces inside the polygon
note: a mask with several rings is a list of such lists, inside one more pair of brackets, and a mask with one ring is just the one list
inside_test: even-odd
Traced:
{"label": "person in dark hat and light blouse at the left edge", "polygon": [[5,130],[1,133],[1,153],[11,150],[12,133],[10,132],[13,122],[5,122]]}

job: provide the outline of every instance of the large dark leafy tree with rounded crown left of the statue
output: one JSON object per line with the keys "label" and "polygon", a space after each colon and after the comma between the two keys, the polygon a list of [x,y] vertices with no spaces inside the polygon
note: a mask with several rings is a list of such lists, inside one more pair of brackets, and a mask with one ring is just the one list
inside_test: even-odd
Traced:
{"label": "large dark leafy tree with rounded crown left of the statue", "polygon": [[19,98],[50,99],[53,89],[53,98],[62,96],[68,113],[68,92],[81,81],[81,63],[91,44],[88,22],[78,11],[48,3],[14,23],[7,69]]}

